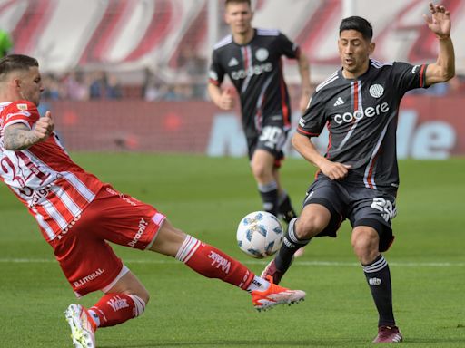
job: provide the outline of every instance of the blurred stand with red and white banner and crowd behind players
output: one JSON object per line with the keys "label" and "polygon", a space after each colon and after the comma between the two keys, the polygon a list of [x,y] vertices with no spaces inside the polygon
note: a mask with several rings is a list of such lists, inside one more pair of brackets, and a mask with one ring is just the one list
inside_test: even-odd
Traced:
{"label": "blurred stand with red and white banner and crowd behind players", "polygon": [[[452,34],[460,33],[464,2],[446,2],[455,20]],[[392,0],[389,5],[370,0],[286,3],[283,8],[282,0],[255,1],[253,24],[276,27],[301,44],[315,85],[339,66],[334,54],[337,24],[347,3],[376,28],[374,58],[424,63],[435,56],[435,42],[424,32],[421,18],[426,0]],[[45,72],[45,99],[52,101],[205,100],[213,43],[228,34],[223,1],[217,0],[0,0],[0,20],[13,39],[9,52],[38,58]],[[459,38],[457,77],[420,93],[465,93],[461,47]],[[295,64],[285,64],[295,97]]]}

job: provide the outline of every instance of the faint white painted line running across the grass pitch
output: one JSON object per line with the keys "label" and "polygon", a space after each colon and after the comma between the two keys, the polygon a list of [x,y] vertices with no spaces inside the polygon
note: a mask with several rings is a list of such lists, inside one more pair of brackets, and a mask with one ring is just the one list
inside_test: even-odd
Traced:
{"label": "faint white painted line running across the grass pitch", "polygon": [[[266,265],[269,261],[264,260],[240,260],[245,265]],[[56,260],[53,258],[0,258],[1,264],[50,264]],[[126,259],[124,264],[167,264],[183,265],[176,260],[134,260]],[[357,266],[357,262],[338,262],[338,261],[295,261],[294,266]],[[389,266],[395,267],[465,267],[465,262],[389,262]]]}

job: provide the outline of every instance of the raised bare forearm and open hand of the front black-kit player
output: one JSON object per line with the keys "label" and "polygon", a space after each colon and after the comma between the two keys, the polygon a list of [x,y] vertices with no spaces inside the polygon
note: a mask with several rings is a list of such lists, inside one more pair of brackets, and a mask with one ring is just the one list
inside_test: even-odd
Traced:
{"label": "raised bare forearm and open hand of the front black-kit player", "polygon": [[450,12],[443,5],[430,3],[430,15],[425,14],[423,17],[440,42],[438,60],[428,65],[426,70],[426,84],[449,81],[455,74],[455,53],[450,39]]}

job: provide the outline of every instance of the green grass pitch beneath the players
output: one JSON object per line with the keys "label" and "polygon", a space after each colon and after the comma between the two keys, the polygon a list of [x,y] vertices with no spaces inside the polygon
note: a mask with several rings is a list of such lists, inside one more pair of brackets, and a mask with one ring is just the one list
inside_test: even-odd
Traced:
{"label": "green grass pitch beneath the players", "polygon": [[[222,248],[260,273],[265,261],[244,256],[235,229],[261,203],[245,159],[154,154],[74,154],[116,189],[152,203],[173,225]],[[409,347],[465,347],[465,160],[401,161],[396,242],[390,262],[396,319]],[[296,206],[313,169],[286,160],[282,178]],[[71,346],[63,311],[76,301],[52,249],[14,196],[0,187],[0,347]],[[97,346],[370,347],[377,314],[350,246],[347,223],[337,239],[312,241],[283,285],[307,292],[292,307],[255,313],[249,295],[205,279],[166,256],[115,247],[152,294],[142,317],[100,330]],[[99,294],[80,302],[92,305]]]}

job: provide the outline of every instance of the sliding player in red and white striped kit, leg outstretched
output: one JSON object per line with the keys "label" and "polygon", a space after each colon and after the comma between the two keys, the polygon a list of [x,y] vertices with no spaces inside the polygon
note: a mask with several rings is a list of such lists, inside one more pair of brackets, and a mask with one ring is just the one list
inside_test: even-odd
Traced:
{"label": "sliding player in red and white striped kit, leg outstretched", "polygon": [[301,301],[305,293],[273,285],[222,251],[173,227],[152,206],[118,192],[70,159],[50,111],[37,105],[44,86],[35,58],[0,60],[0,179],[35,217],[77,297],[101,290],[91,308],[70,304],[75,347],[92,348],[98,327],[143,314],[149,293],[107,243],[175,257],[193,271],[238,286],[258,310]]}

